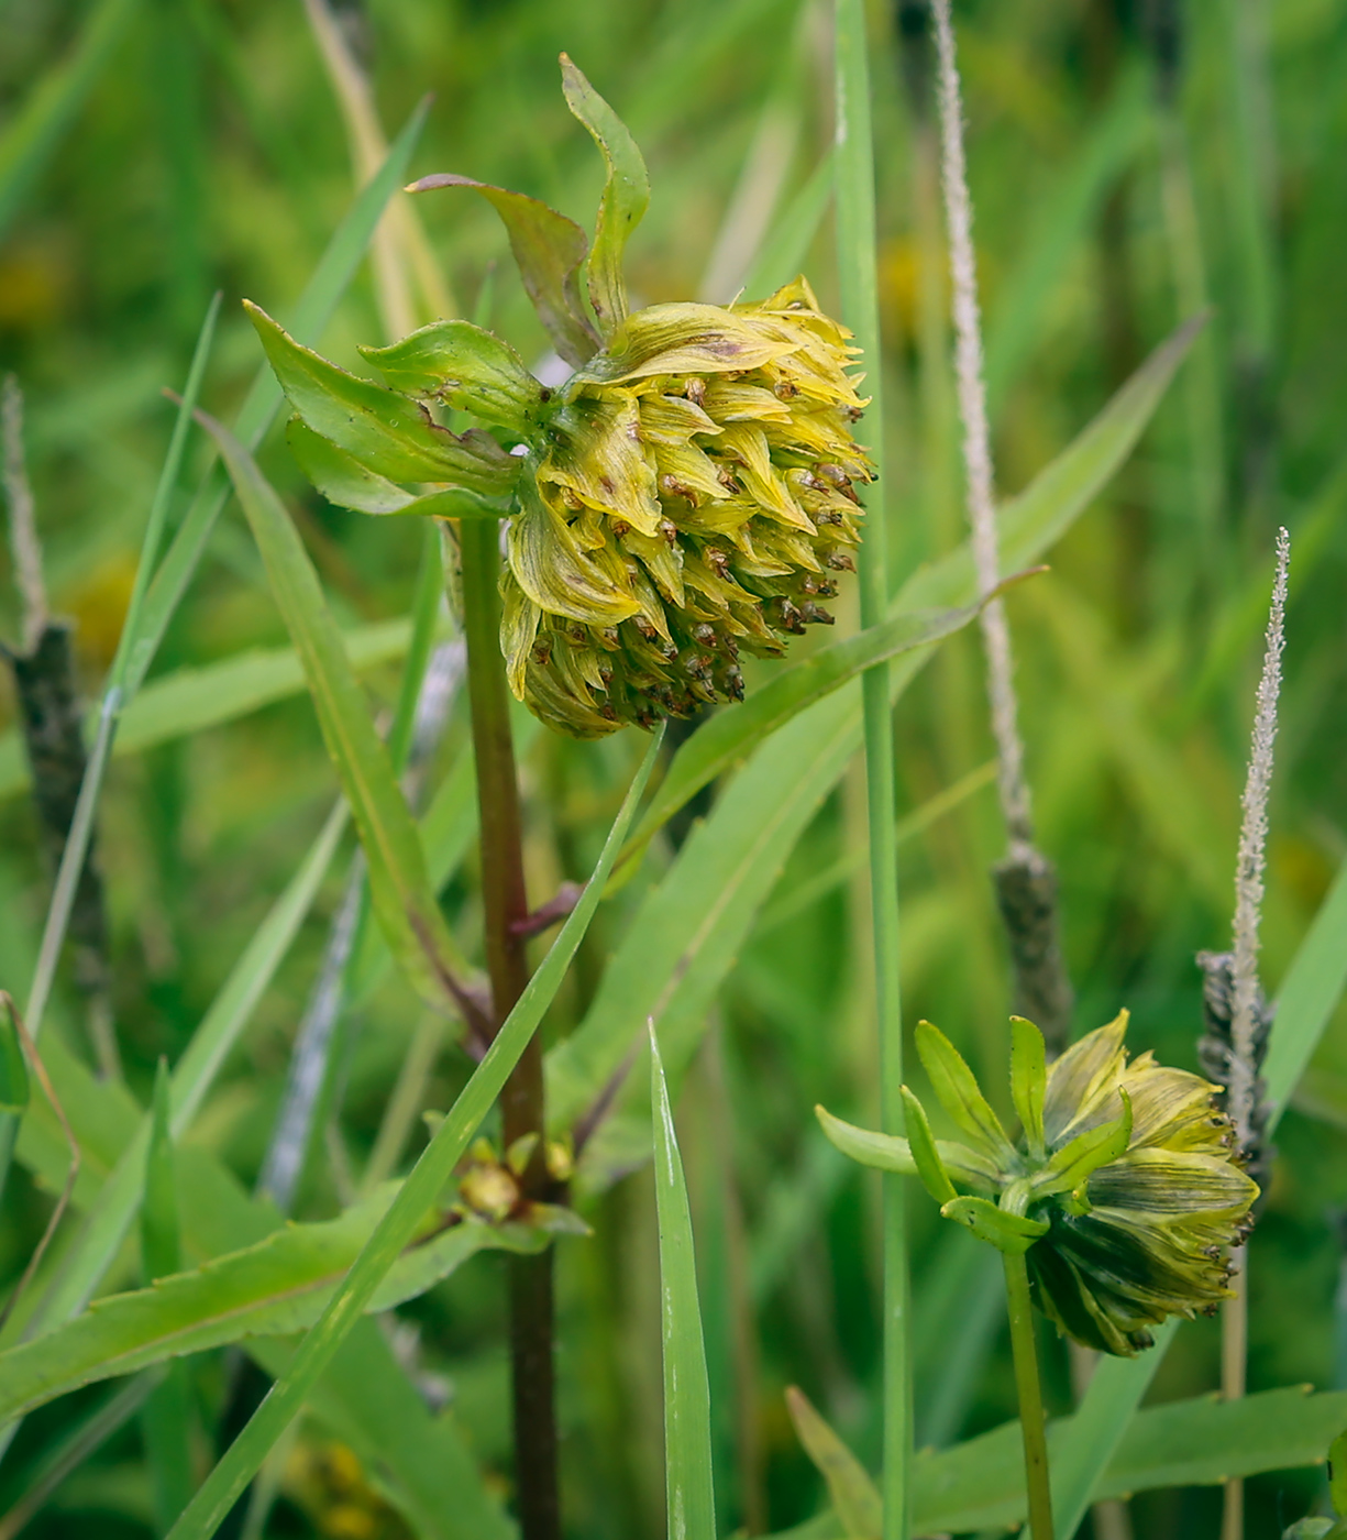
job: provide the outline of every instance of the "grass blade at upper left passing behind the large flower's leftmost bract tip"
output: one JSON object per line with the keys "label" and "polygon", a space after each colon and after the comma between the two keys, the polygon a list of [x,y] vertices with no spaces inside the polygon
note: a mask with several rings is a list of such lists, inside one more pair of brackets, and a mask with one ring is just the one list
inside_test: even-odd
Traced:
{"label": "grass blade at upper left passing behind the large flower's leftmost bract tip", "polygon": [[[422,102],[411,114],[406,126],[388,151],[388,159],[379,168],[379,172],[369,179],[351,205],[349,214],[337,226],[328,249],[319,260],[314,276],[309,279],[308,288],[296,306],[291,331],[299,342],[309,345],[319,340],[323,326],[326,326],[328,319],[337,306],[337,300],[345,294],[346,286],[356,276],[356,270],[365,256],[365,248],[369,245],[369,239],[389,197],[406,180],[406,168],[420,139],[428,111],[430,103]],[[262,440],[276,419],[280,400],[280,385],[277,385],[276,376],[268,365],[263,363],[234,425],[236,433],[248,448],[256,448]],[[145,673],[159,651],[159,644],[163,641],[168,622],[177,611],[182,596],[192,579],[192,573],[197,570],[197,564],[206,548],[211,530],[216,527],[216,519],[225,507],[228,493],[228,479],[219,467],[212,467],[206,473],[162,565],[154,574],[154,582],[145,596],[142,634],[135,638],[135,667],[128,670],[128,698],[140,688]]]}

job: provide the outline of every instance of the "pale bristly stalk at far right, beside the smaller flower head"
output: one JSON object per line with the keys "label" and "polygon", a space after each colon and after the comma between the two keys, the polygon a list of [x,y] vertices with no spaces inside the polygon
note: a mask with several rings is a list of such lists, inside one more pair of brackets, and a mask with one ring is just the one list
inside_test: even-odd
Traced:
{"label": "pale bristly stalk at far right, beside the smaller flower head", "polygon": [[[1276,707],[1281,695],[1281,654],[1285,647],[1287,570],[1290,567],[1290,536],[1276,531],[1276,578],[1272,585],[1272,608],[1267,616],[1262,675],[1258,681],[1253,735],[1248,747],[1248,775],[1244,781],[1239,825],[1239,852],[1235,859],[1235,958],[1230,967],[1233,1012],[1230,1021],[1230,1083],[1225,1106],[1235,1124],[1241,1147],[1255,1141],[1258,1110],[1258,949],[1262,918],[1264,865],[1267,861],[1267,802],[1272,792],[1273,747],[1276,744]],[[1235,1298],[1221,1312],[1221,1394],[1239,1400],[1247,1384],[1248,1366],[1248,1267],[1236,1254],[1230,1280]],[[1221,1517],[1221,1540],[1244,1535],[1244,1483],[1225,1483]]]}

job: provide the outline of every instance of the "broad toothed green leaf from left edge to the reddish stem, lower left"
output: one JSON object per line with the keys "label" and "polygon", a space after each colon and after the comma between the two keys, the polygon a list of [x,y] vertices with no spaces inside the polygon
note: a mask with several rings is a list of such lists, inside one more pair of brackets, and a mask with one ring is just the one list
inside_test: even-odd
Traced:
{"label": "broad toothed green leaf from left edge to the reddish stem, lower left", "polygon": [[[397,1195],[397,1183],[340,1218],[286,1224],[265,1240],[149,1287],[95,1300],[35,1341],[0,1354],[0,1421],[95,1380],[132,1374],[183,1354],[251,1337],[289,1337],[322,1315]],[[419,1240],[365,1303],[369,1314],[425,1294],[483,1249],[540,1250],[550,1237],[530,1226],[465,1221],[445,1227],[428,1212]]]}

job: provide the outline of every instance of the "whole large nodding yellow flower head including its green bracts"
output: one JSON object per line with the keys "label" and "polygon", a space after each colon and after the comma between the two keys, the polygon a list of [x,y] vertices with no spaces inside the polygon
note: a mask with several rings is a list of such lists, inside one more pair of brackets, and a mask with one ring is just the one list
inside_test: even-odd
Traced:
{"label": "whole large nodding yellow flower head including its green bracts", "polygon": [[[567,102],[608,163],[593,245],[545,203],[460,176],[505,222],[574,373],[543,387],[500,337],[439,320],[360,353],[359,379],[251,314],[294,408],[291,447],[363,513],[506,521],[500,641],[516,696],[576,738],[744,696],[824,608],[873,479],[851,334],[801,277],[757,303],[628,314],[622,253],[648,202],[631,136],[562,57]],[[583,276],[588,306],[580,294]],[[451,431],[446,414],[477,427]]]}

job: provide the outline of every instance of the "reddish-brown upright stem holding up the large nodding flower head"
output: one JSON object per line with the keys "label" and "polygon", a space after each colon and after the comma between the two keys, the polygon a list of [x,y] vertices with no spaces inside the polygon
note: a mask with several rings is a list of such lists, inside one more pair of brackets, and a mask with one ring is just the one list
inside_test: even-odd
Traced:
{"label": "reddish-brown upright stem holding up the large nodding flower head", "polygon": [[[528,983],[528,918],[519,779],[510,736],[510,691],[500,653],[499,525],[463,519],[463,631],[468,642],[468,696],[477,765],[482,829],[482,901],[486,972],[496,1029]],[[505,1147],[533,1133],[537,1144],[523,1173],[528,1198],[551,1197],[543,1155],[542,1044],[533,1036],[500,1096]],[[523,1540],[560,1540],[557,1432],[553,1364],[553,1254],[511,1257],[510,1358],[514,1394],[514,1466]]]}

